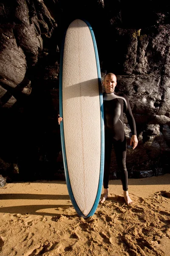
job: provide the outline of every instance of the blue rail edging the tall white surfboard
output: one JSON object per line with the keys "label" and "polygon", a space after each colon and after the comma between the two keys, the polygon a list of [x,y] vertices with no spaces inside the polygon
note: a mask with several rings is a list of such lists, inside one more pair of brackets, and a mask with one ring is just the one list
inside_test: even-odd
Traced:
{"label": "blue rail edging the tall white surfboard", "polygon": [[[93,40],[94,44],[94,51],[95,51],[95,56],[96,56],[96,66],[97,66],[97,74],[98,74],[98,83],[99,83],[99,100],[100,100],[100,119],[101,119],[101,157],[100,157],[100,174],[99,174],[99,185],[98,185],[98,191],[96,194],[96,199],[94,202],[93,207],[91,208],[91,211],[88,213],[87,216],[85,216],[82,211],[79,209],[77,202],[75,201],[72,189],[71,189],[71,183],[70,183],[70,178],[69,178],[69,173],[68,173],[68,165],[67,165],[67,157],[66,157],[66,151],[65,151],[65,139],[64,139],[64,119],[60,123],[60,135],[61,135],[61,146],[62,146],[62,158],[63,158],[63,164],[64,164],[64,171],[65,171],[65,180],[67,183],[67,188],[68,188],[68,194],[70,196],[71,202],[74,206],[74,209],[76,210],[77,214],[80,217],[83,218],[89,218],[90,216],[94,215],[96,212],[97,206],[99,204],[100,196],[102,193],[102,183],[103,183],[103,175],[104,175],[104,114],[103,114],[103,96],[102,96],[102,82],[101,82],[101,73],[100,73],[100,64],[99,64],[99,55],[97,51],[97,45],[96,45],[96,39],[94,36],[93,29],[88,23],[87,20],[81,19],[84,21],[87,25],[88,28],[91,32],[91,37]],[[66,35],[67,29],[65,31]],[[59,72],[59,115],[63,117],[63,111],[62,111],[62,70],[63,70],[63,54],[64,54],[64,44],[65,44],[65,35],[63,37],[62,41],[62,47],[61,47],[61,54],[60,54],[60,72]]]}

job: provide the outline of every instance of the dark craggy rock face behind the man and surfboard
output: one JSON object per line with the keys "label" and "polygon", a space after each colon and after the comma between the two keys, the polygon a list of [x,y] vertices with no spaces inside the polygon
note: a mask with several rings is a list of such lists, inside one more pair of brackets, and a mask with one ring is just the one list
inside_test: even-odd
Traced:
{"label": "dark craggy rock face behind the man and surfboard", "polygon": [[[0,173],[64,178],[59,125],[59,61],[65,29],[91,23],[102,77],[117,76],[139,139],[125,117],[129,177],[170,172],[170,3],[152,0],[1,0]],[[112,152],[111,178],[119,178]]]}

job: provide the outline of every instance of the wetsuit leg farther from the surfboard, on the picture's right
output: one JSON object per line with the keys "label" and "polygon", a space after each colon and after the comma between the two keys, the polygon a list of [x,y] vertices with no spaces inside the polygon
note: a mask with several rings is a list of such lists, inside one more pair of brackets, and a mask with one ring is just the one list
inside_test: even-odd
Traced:
{"label": "wetsuit leg farther from the surfboard, on the picture's right", "polygon": [[116,154],[116,161],[118,168],[121,173],[121,181],[123,190],[128,190],[128,175],[126,169],[126,137],[123,141],[120,140],[113,140],[114,151]]}

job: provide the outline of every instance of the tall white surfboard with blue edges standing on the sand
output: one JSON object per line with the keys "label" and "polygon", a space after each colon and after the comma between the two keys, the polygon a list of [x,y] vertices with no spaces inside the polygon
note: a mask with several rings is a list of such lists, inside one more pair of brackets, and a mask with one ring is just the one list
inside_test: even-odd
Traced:
{"label": "tall white surfboard with blue edges standing on the sand", "polygon": [[71,202],[79,216],[94,215],[102,192],[104,120],[99,56],[91,25],[74,20],[60,58],[62,158]]}

